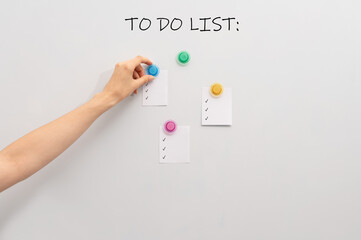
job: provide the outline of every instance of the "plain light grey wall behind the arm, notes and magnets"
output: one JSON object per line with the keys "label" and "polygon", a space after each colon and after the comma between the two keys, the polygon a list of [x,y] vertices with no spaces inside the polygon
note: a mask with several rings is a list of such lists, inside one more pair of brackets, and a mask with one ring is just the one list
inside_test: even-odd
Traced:
{"label": "plain light grey wall behind the arm, notes and magnets", "polygon": [[[1,1],[0,147],[84,103],[117,61],[169,70],[169,105],[130,97],[0,194],[0,239],[361,239],[361,3]],[[240,31],[129,31],[124,18],[235,16]],[[175,62],[185,49],[187,67]],[[233,125],[201,127],[201,87]],[[158,163],[158,126],[191,163]]]}

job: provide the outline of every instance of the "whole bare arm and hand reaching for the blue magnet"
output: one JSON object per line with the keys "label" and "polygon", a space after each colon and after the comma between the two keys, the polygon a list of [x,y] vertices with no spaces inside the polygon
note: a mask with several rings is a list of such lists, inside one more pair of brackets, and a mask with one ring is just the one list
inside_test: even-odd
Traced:
{"label": "whole bare arm and hand reaching for the blue magnet", "polygon": [[104,112],[152,81],[142,56],[120,62],[103,91],[60,118],[26,134],[0,151],[0,192],[28,178],[70,147]]}

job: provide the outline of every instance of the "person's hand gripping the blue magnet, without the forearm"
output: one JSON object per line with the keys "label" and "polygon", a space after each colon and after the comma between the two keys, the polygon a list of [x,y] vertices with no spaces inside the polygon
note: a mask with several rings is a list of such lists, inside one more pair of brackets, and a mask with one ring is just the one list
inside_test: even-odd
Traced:
{"label": "person's hand gripping the blue magnet, without the forearm", "polygon": [[111,97],[115,103],[120,102],[131,93],[138,93],[138,88],[154,80],[151,75],[146,75],[141,63],[151,65],[152,62],[142,56],[137,56],[115,65],[113,75],[105,85],[103,94]]}

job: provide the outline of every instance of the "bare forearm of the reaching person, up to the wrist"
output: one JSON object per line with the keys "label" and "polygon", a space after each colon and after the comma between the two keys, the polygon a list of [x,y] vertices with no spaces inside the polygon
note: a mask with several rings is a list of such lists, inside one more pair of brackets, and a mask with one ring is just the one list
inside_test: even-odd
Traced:
{"label": "bare forearm of the reaching person, up to the wrist", "polygon": [[[116,101],[97,94],[87,103],[64,116],[26,134],[0,151],[0,192],[31,176],[72,145],[90,125]],[[11,174],[2,172],[13,170]],[[3,169],[3,170],[4,170]],[[8,176],[2,179],[2,176]],[[10,177],[9,177],[10,176]]]}

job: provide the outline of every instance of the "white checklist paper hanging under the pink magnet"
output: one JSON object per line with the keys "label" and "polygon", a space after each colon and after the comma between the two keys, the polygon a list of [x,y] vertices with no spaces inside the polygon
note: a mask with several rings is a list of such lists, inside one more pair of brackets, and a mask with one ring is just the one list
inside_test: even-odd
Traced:
{"label": "white checklist paper hanging under the pink magnet", "polygon": [[172,134],[159,128],[159,162],[160,163],[189,163],[189,126],[177,126]]}

